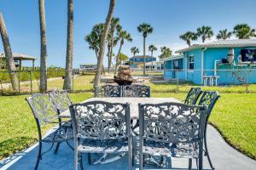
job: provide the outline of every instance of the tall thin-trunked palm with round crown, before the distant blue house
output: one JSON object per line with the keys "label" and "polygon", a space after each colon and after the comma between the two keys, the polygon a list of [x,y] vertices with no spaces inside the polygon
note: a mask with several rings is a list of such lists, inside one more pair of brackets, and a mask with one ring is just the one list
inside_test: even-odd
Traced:
{"label": "tall thin-trunked palm with round crown, before the distant blue house", "polygon": [[143,32],[143,74],[146,74],[146,37],[148,37],[148,34],[153,32],[153,27],[151,27],[149,24],[143,23],[140,26],[137,27],[138,32]]}

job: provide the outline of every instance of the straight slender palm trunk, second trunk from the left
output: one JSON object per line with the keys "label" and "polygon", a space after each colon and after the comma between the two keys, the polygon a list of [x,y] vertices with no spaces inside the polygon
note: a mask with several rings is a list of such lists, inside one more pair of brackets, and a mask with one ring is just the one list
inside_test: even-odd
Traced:
{"label": "straight slender palm trunk, second trunk from the left", "polygon": [[47,67],[46,67],[46,23],[44,0],[38,0],[39,3],[39,20],[40,20],[40,37],[41,37],[41,54],[40,54],[40,92],[47,91]]}

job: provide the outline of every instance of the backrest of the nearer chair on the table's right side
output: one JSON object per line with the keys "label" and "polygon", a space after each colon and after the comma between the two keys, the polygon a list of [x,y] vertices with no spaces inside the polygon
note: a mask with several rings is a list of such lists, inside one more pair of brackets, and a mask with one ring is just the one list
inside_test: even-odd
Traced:
{"label": "backrest of the nearer chair on the table's right side", "polygon": [[210,116],[213,106],[215,105],[219,97],[220,95],[218,95],[217,91],[205,91],[202,94],[198,105],[207,105],[207,116]]}

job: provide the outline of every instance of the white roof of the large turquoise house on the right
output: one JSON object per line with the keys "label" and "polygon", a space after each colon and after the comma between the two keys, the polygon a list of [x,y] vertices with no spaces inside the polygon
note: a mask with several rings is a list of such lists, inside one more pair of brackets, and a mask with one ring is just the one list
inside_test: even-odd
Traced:
{"label": "white roof of the large turquoise house on the right", "polygon": [[177,50],[176,53],[183,53],[197,48],[241,48],[241,47],[256,47],[256,39],[236,39],[236,40],[218,40],[213,42],[204,42],[194,44],[189,48]]}

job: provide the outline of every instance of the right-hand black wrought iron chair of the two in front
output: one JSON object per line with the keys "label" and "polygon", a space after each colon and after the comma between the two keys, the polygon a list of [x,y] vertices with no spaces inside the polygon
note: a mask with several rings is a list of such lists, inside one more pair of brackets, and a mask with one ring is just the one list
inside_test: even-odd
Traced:
{"label": "right-hand black wrought iron chair of the two in front", "polygon": [[[139,104],[140,169],[143,169],[145,155],[199,158],[201,170],[206,117],[205,106]],[[189,169],[191,166],[189,164]]]}

